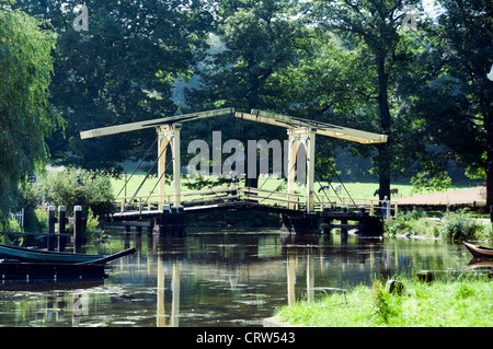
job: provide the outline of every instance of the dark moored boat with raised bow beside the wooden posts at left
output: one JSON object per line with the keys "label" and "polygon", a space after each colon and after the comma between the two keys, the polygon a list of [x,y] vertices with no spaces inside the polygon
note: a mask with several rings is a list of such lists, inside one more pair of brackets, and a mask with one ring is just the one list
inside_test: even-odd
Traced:
{"label": "dark moored boat with raised bow beside the wooden posts at left", "polygon": [[[10,247],[3,246],[1,247]],[[27,252],[32,252],[28,254]],[[5,254],[5,252],[8,254]],[[85,255],[30,248],[2,248],[0,280],[88,280],[105,278],[106,263],[135,253],[128,248],[114,255]],[[71,256],[71,257],[70,257]]]}

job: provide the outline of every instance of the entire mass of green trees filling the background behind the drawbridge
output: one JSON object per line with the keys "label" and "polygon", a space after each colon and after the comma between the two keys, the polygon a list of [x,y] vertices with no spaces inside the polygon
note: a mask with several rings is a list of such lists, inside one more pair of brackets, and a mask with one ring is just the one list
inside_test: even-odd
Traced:
{"label": "entire mass of green trees filling the background behind the drawbridge", "polygon": [[[486,0],[439,0],[445,12],[437,20],[423,14],[420,0],[88,0],[89,28],[76,31],[79,2],[16,1],[16,9],[47,21],[3,8],[0,44],[11,49],[0,50],[8,67],[0,86],[9,86],[0,90],[0,113],[9,116],[0,119],[0,144],[19,149],[0,154],[0,162],[21,158],[19,166],[0,168],[1,178],[10,178],[0,183],[5,193],[46,160],[43,139],[60,125],[65,132],[47,141],[51,162],[112,170],[147,150],[153,130],[91,140],[80,140],[80,131],[227,106],[387,133],[385,144],[348,147],[371,159],[380,198],[405,170],[439,178],[447,161],[458,161],[486,179],[493,205],[493,82],[486,78],[493,10]],[[416,8],[416,31],[402,27],[406,5]],[[192,75],[199,88],[186,93],[190,108],[180,108],[175,80]],[[13,118],[21,114],[23,123],[42,121],[21,124]],[[246,123],[188,123],[182,137],[207,140],[213,128],[243,142],[286,136]],[[334,144],[347,142],[318,141],[319,154],[333,156]],[[319,173],[330,172],[322,158]],[[12,194],[2,200],[7,207]]]}

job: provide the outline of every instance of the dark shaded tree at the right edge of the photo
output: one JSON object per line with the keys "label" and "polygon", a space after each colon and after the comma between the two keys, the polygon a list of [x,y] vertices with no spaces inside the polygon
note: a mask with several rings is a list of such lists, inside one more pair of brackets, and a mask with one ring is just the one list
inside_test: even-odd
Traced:
{"label": "dark shaded tree at the right edge of the photo", "polygon": [[493,220],[493,5],[489,0],[440,0],[445,12],[428,33],[434,79],[416,103],[433,141],[486,182]]}

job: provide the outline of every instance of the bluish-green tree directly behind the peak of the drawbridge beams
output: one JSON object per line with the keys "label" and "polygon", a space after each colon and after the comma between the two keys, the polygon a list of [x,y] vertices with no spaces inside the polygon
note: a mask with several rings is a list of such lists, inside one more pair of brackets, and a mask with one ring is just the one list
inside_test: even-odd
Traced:
{"label": "bluish-green tree directly behind the peak of the drawbridge beams", "polygon": [[[282,69],[295,66],[298,50],[309,45],[298,11],[297,0],[219,0],[211,36],[216,49],[205,56],[196,71],[198,89],[186,93],[192,108],[289,109],[279,98],[284,91],[276,77]],[[283,129],[253,123],[238,127],[238,121],[223,132],[225,138],[244,141],[286,136]]]}

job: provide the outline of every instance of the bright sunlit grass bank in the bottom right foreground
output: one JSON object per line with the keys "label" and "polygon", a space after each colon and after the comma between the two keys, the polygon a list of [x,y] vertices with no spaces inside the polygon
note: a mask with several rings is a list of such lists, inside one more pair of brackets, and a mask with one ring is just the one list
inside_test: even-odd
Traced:
{"label": "bright sunlit grass bank in the bottom right foreground", "polygon": [[431,283],[402,281],[403,295],[391,294],[380,281],[358,286],[347,294],[326,295],[280,309],[276,317],[310,327],[483,327],[493,325],[493,282],[449,279]]}

